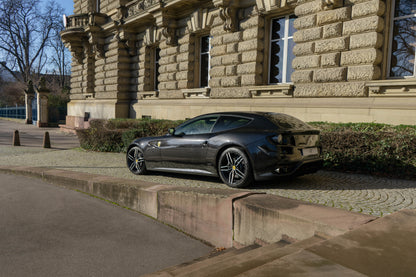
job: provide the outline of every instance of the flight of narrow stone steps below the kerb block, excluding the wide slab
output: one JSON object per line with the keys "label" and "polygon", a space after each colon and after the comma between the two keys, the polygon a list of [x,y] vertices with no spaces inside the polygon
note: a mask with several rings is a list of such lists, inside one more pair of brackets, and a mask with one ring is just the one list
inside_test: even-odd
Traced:
{"label": "flight of narrow stone steps below the kerb block, excluding the wide slab", "polygon": [[[320,237],[311,237],[293,244],[273,243],[242,252],[230,252],[213,259],[197,262],[191,266],[159,272],[149,276],[236,276],[253,268],[260,267],[276,259],[301,251],[302,249],[324,241]],[[238,250],[237,250],[238,251]],[[163,273],[163,274],[162,274]],[[166,273],[166,274],[165,274]]]}

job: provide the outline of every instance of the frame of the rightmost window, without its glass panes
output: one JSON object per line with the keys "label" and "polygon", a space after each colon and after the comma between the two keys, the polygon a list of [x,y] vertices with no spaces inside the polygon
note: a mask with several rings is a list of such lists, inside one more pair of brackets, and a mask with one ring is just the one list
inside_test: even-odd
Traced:
{"label": "frame of the rightmost window, without its glass panes", "polygon": [[[396,20],[406,19],[406,18],[416,18],[416,12],[413,14],[395,17],[396,9],[396,0],[391,0],[391,10],[390,10],[390,22],[389,22],[389,40],[388,40],[388,50],[387,50],[387,70],[386,77],[388,79],[409,79],[416,78],[416,62],[413,63],[413,75],[411,76],[391,76],[391,59],[393,55],[393,37],[394,37],[394,22]],[[416,46],[414,47],[414,56],[416,60]]]}

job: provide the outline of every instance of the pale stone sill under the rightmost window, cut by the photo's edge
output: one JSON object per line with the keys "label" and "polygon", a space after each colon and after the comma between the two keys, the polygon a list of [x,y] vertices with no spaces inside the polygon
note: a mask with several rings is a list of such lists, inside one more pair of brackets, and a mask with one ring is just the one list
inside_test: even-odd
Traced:
{"label": "pale stone sill under the rightmost window, cut by the photo's edge", "polygon": [[366,86],[371,97],[416,97],[416,78],[369,81]]}

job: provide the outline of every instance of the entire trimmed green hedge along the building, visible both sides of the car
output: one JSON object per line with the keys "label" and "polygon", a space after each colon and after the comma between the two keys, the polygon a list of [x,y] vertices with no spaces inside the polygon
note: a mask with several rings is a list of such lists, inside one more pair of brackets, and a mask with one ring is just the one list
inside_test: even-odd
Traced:
{"label": "entire trimmed green hedge along the building, visible both sides of the car", "polygon": [[[92,120],[77,131],[81,147],[92,151],[125,152],[138,137],[160,136],[183,121]],[[401,178],[416,176],[416,126],[374,123],[311,122],[321,130],[324,168]]]}

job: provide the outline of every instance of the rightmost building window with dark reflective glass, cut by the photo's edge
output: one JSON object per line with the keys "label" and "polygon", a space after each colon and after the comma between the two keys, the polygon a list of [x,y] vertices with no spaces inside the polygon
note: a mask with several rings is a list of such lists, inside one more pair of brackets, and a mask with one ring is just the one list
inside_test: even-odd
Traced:
{"label": "rightmost building window with dark reflective glass, cut by the photo's edge", "polygon": [[390,77],[415,77],[416,2],[396,0],[392,3],[390,33]]}

